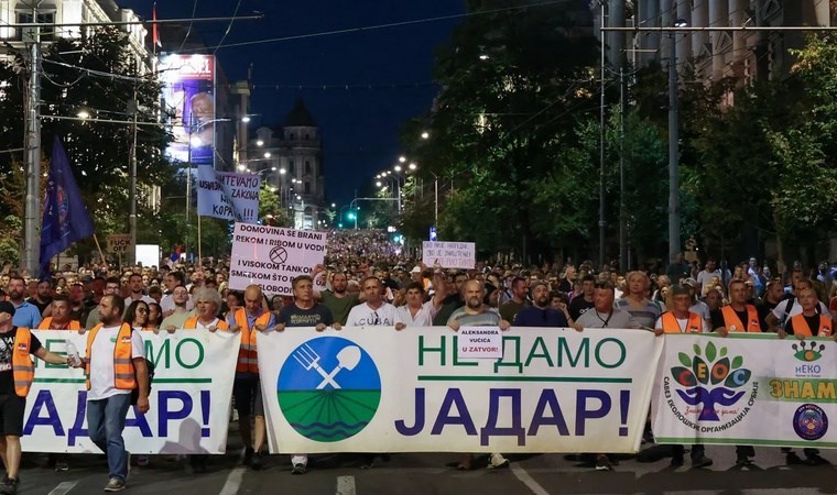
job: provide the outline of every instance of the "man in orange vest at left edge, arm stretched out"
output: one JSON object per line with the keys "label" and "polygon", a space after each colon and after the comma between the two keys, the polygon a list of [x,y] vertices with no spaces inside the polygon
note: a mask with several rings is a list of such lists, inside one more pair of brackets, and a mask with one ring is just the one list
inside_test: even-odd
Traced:
{"label": "man in orange vest at left edge, arm stretched out", "polygon": [[7,473],[0,484],[0,494],[4,495],[18,493],[23,414],[35,376],[30,354],[52,364],[70,362],[68,358],[48,352],[28,328],[13,326],[12,317],[14,305],[0,301],[0,452]]}

